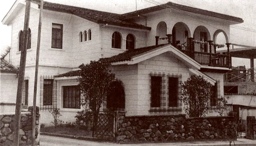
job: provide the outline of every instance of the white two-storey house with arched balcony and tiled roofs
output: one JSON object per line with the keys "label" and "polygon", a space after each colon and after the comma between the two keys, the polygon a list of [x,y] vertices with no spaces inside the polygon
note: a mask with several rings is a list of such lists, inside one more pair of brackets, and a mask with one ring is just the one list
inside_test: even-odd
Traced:
{"label": "white two-storey house with arched balcony and tiled roofs", "polygon": [[[28,106],[34,91],[38,4],[32,0],[29,21]],[[12,26],[10,61],[17,67],[24,14],[25,3],[17,0],[2,20]],[[41,122],[52,121],[49,110],[54,108],[60,108],[64,122],[74,120],[81,110],[76,70],[99,59],[110,62],[124,83],[124,100],[111,100],[121,102],[118,108],[126,115],[184,113],[179,83],[192,74],[204,76],[215,86],[214,106],[215,99],[224,96],[223,73],[230,70],[231,58],[228,52],[216,54],[217,45],[207,41],[216,44],[217,35],[223,33],[228,43],[229,26],[242,22],[171,2],[125,14],[44,2],[37,85]],[[104,108],[115,106],[106,102]]]}

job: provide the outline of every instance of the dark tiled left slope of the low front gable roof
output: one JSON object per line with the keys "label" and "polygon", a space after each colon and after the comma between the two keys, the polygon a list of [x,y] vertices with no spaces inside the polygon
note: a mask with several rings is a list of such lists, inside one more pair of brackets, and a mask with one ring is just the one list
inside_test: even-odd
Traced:
{"label": "dark tiled left slope of the low front gable roof", "polygon": [[150,50],[154,50],[158,47],[162,47],[166,44],[160,44],[160,45],[155,45],[155,46],[148,46],[148,47],[143,47],[143,48],[138,48],[134,50],[127,50],[124,53],[120,53],[118,55],[112,56],[110,58],[101,58],[100,61],[102,62],[119,62],[119,61],[130,61],[132,60],[132,57],[140,55],[142,53],[145,53]]}

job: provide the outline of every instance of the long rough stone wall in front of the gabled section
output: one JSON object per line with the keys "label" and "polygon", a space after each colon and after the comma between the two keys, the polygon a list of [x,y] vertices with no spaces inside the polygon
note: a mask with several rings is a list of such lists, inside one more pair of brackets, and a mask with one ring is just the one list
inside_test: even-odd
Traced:
{"label": "long rough stone wall in front of the gabled section", "polygon": [[234,117],[119,116],[117,122],[119,143],[236,139]]}

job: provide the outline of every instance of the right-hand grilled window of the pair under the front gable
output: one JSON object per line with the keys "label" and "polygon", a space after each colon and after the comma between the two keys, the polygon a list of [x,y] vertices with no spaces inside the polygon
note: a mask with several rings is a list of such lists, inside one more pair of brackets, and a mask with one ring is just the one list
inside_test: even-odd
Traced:
{"label": "right-hand grilled window of the pair under the front gable", "polygon": [[180,98],[182,74],[169,74],[168,78],[168,113],[181,114],[182,113],[182,101]]}

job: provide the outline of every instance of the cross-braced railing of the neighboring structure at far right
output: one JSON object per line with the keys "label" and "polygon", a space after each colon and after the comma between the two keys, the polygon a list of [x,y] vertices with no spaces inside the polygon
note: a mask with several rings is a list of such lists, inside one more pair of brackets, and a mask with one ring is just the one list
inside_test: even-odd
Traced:
{"label": "cross-braced railing of the neighboring structure at far right", "polygon": [[256,69],[232,69],[224,74],[224,82],[255,82]]}

